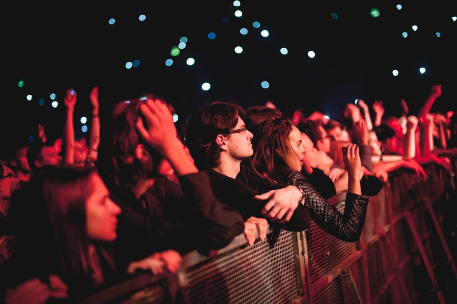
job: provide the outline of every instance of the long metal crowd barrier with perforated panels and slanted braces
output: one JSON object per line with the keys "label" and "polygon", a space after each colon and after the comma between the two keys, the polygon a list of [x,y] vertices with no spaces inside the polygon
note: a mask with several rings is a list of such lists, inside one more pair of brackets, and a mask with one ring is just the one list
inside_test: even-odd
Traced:
{"label": "long metal crowd barrier with perforated panels and slanted braces", "polygon": [[[364,231],[355,243],[332,237],[314,222],[302,233],[270,230],[253,246],[239,235],[209,256],[196,251],[184,256],[166,284],[143,275],[143,281],[133,279],[135,288],[122,291],[123,297],[91,302],[413,303],[427,293],[444,303],[435,269],[444,256],[457,278],[441,227],[442,205],[455,204],[448,201],[455,189],[452,173],[434,163],[424,167],[428,181],[405,168],[389,175],[378,195],[370,197]],[[331,203],[342,212],[344,200],[340,195]],[[148,290],[165,290],[168,296],[148,298]]]}

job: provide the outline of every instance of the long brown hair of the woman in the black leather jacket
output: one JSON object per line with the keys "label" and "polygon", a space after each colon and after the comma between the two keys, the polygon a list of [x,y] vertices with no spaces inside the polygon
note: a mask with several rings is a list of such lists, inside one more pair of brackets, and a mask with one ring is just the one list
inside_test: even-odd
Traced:
{"label": "long brown hair of the woman in the black leather jacket", "polygon": [[289,134],[292,131],[290,118],[281,117],[266,120],[259,125],[258,145],[251,158],[251,166],[256,174],[270,181],[277,181],[275,166],[286,166],[289,152]]}

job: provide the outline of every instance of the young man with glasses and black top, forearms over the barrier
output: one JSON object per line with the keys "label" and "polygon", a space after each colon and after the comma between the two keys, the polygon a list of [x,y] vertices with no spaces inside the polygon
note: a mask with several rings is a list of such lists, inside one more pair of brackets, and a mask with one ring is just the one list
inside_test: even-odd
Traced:
{"label": "young man with glasses and black top, forearms over the barrier", "polygon": [[241,107],[224,102],[195,111],[186,130],[190,155],[200,170],[208,171],[215,196],[243,218],[262,217],[287,230],[305,230],[309,213],[299,204],[303,193],[295,186],[260,178],[241,164],[253,154],[253,135],[242,116]]}

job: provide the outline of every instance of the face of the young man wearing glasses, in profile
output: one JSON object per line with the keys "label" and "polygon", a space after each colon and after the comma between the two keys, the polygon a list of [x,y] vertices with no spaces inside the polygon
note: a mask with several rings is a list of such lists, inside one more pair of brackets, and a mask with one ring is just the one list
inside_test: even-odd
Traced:
{"label": "face of the young man wearing glasses, in profile", "polygon": [[253,135],[251,132],[246,130],[246,125],[240,116],[238,116],[237,125],[233,128],[233,130],[238,131],[230,133],[228,136],[224,137],[228,155],[238,160],[243,160],[252,156],[252,154],[254,154],[251,144]]}

